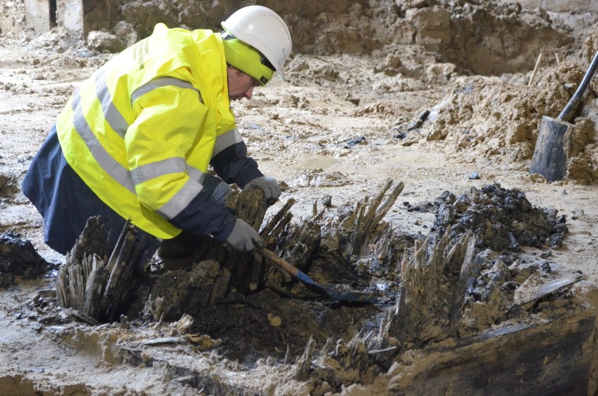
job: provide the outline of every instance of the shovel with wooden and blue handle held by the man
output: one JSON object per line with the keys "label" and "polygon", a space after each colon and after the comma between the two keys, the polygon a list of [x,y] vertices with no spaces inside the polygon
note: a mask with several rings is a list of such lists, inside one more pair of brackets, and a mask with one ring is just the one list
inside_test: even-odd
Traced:
{"label": "shovel with wooden and blue handle held by the man", "polygon": [[314,281],[312,278],[307,276],[305,273],[300,271],[298,268],[292,266],[288,263],[285,259],[278,257],[277,254],[271,252],[267,249],[256,249],[256,251],[261,254],[266,259],[272,261],[272,263],[276,264],[279,268],[282,268],[284,271],[293,275],[294,278],[297,278],[308,289],[312,290],[312,292],[316,292],[321,296],[328,297],[328,299],[339,300],[339,301],[347,301],[352,303],[373,303],[376,302],[376,297],[372,293],[364,293],[364,292],[339,292],[338,290],[332,289],[330,286],[322,285]]}

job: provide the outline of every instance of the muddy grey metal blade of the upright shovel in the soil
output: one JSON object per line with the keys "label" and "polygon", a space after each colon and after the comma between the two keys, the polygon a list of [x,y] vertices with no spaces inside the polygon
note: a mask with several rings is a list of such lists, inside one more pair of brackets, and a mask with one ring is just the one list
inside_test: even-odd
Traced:
{"label": "muddy grey metal blade of the upright shovel in the soil", "polygon": [[572,131],[572,124],[543,116],[529,172],[543,175],[548,182],[562,180],[567,168]]}

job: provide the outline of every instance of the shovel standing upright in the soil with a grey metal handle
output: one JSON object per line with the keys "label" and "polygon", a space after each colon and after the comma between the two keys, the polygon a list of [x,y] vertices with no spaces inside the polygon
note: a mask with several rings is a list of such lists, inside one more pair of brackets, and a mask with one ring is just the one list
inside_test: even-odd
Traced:
{"label": "shovel standing upright in the soil with a grey metal handle", "polygon": [[571,148],[571,133],[573,132],[573,124],[568,121],[576,110],[597,66],[598,53],[594,55],[590,68],[585,72],[579,87],[557,119],[547,116],[542,117],[536,149],[533,151],[533,158],[531,159],[530,173],[539,173],[546,177],[548,182],[563,179]]}

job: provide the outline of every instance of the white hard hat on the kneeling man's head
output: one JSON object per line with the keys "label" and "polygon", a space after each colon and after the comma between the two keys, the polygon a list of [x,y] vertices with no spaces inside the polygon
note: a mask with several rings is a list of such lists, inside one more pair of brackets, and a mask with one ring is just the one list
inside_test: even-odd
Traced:
{"label": "white hard hat on the kneeling man's head", "polygon": [[260,51],[274,69],[282,66],[293,49],[291,34],[277,13],[263,6],[247,6],[222,22],[227,33]]}

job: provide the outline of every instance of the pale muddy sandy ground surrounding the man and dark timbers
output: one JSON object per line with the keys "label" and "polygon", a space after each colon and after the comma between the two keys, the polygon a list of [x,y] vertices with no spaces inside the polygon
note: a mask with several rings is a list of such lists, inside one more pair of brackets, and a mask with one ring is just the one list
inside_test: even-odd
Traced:
{"label": "pale muddy sandy ground surrounding the man and dark timbers", "polygon": [[[595,45],[586,44],[594,52]],[[541,68],[537,86],[531,88],[527,81],[534,60],[529,60],[529,69],[523,73],[472,77],[458,73],[454,64],[422,55],[413,46],[397,46],[399,63],[387,53],[294,55],[286,81],[274,80],[255,90],[251,101],[233,106],[260,169],[283,183],[284,193],[272,211],[295,198],[293,211],[301,217],[312,211],[314,201],[322,207],[326,196],[337,207],[361,200],[378,191],[387,179],[394,179],[403,182],[405,189],[387,219],[402,231],[426,234],[433,215],[408,212],[405,203],[433,200],[447,190],[458,196],[493,183],[517,188],[534,206],[554,208],[566,216],[569,234],[563,247],[552,250],[550,260],[583,273],[576,292],[595,307],[598,179],[592,156],[596,154],[580,149],[586,162],[576,175],[581,172],[582,176],[563,182],[549,184],[528,172],[542,111],[554,116],[566,102],[566,90],[560,96],[552,93],[558,97],[544,107],[538,103],[550,97],[555,79],[583,74],[583,69],[576,67],[580,52],[571,51],[559,69],[556,65]],[[48,37],[19,43],[0,36],[0,177],[4,178],[0,232],[20,233],[51,262],[60,263],[63,257],[44,245],[43,220],[20,193],[20,180],[77,82],[109,56],[74,48],[58,53]],[[463,97],[463,89],[456,87],[472,87],[473,96]],[[597,144],[595,104],[595,97],[590,97],[585,112],[589,121],[583,121],[590,126],[579,132],[585,147]],[[420,128],[407,131],[405,125],[424,110],[436,111],[436,119],[444,117],[446,121],[451,116],[451,121],[439,126],[430,118]],[[524,114],[515,114],[518,111]],[[523,136],[512,137],[521,123],[525,123],[521,127],[524,132],[519,129]],[[472,130],[467,142],[456,135],[465,128]],[[401,131],[406,133],[403,139],[394,137]],[[306,182],[306,176],[314,173],[328,177],[319,183]],[[474,173],[479,179],[470,178]],[[181,378],[165,375],[159,365],[114,357],[112,346],[117,339],[134,336],[117,325],[86,332],[41,325],[36,295],[53,288],[54,282],[55,273],[37,280],[18,280],[0,290],[4,329],[0,335],[0,387],[8,389],[8,394],[201,393]],[[270,366],[266,362],[248,373],[235,362],[218,360],[209,353],[199,356],[194,357],[196,364],[202,364],[201,360],[211,365],[211,372],[221,370],[223,376],[248,376],[238,383],[265,394],[269,392],[264,385],[268,378],[286,378],[281,368],[267,374]],[[280,378],[272,381],[280,384]],[[345,392],[360,394],[357,388]],[[278,385],[276,389],[277,394],[300,394],[308,388],[288,379],[286,388]]]}

